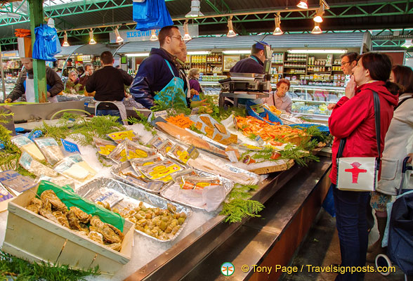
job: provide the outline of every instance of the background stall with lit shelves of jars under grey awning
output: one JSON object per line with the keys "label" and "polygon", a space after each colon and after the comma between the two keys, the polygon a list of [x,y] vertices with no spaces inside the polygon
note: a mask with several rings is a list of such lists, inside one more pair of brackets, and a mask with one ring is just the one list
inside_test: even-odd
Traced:
{"label": "background stall with lit shelves of jars under grey awning", "polygon": [[[186,42],[185,70],[199,68],[199,84],[206,93],[218,95],[221,91],[218,80],[226,78],[230,67],[249,55],[256,41],[265,41],[272,47],[273,89],[279,79],[289,79],[294,114],[323,123],[327,123],[331,114],[327,105],[343,96],[348,81],[341,71],[340,55],[349,51],[362,53],[372,45],[368,32],[197,37]],[[137,70],[150,49],[158,47],[157,41],[128,42],[117,53],[126,55],[129,67]]]}

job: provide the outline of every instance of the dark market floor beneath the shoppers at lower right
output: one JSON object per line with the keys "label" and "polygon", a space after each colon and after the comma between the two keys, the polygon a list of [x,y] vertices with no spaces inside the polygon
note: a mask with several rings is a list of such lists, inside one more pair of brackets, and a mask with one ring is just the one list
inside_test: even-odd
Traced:
{"label": "dark market floor beneath the shoppers at lower right", "polygon": [[[375,242],[379,234],[374,228],[369,236],[369,243]],[[339,264],[340,246],[339,236],[336,230],[336,219],[332,218],[324,209],[320,210],[315,223],[310,228],[307,237],[301,243],[299,251],[294,256],[291,266],[301,268],[304,265],[313,266],[330,266]],[[368,263],[374,266],[373,263]],[[306,273],[304,273],[306,272]],[[283,281],[331,281],[336,277],[336,273],[308,273],[303,270],[303,273],[293,273],[291,275],[283,275],[280,280]],[[404,275],[400,268],[396,266],[396,272],[388,276],[380,275],[379,273],[366,273],[365,281],[401,281],[404,280]]]}

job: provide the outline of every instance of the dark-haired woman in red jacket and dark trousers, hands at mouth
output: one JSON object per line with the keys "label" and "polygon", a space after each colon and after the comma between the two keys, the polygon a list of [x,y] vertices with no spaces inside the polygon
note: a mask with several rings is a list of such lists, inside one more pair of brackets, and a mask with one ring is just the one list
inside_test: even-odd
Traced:
{"label": "dark-haired woman in red jacket and dark trousers, hands at mouth", "polygon": [[[374,124],[373,91],[380,99],[381,152],[384,138],[398,104],[397,86],[388,80],[391,61],[382,53],[365,53],[353,68],[350,87],[329,118],[329,129],[335,137],[332,147],[333,164],[330,178],[336,207],[341,266],[365,266],[367,253],[366,204],[369,192],[343,191],[336,188],[336,155],[341,138],[346,138],[342,157],[378,157]],[[389,91],[389,89],[392,91]],[[380,177],[380,171],[379,171]],[[364,273],[339,274],[336,280],[359,280]]]}

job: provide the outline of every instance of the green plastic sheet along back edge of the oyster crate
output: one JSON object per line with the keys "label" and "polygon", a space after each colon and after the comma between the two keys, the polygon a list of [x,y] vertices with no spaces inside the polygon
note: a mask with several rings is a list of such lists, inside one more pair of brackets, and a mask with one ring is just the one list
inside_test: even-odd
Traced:
{"label": "green plastic sheet along back edge of the oyster crate", "polygon": [[92,216],[99,216],[100,220],[104,223],[109,223],[115,228],[122,231],[124,230],[125,219],[121,215],[109,211],[98,204],[95,204],[89,200],[86,200],[72,190],[70,185],[59,186],[50,181],[40,181],[39,188],[37,189],[37,195],[41,195],[46,190],[53,190],[59,199],[65,203],[67,208],[72,206],[78,207],[87,214]]}

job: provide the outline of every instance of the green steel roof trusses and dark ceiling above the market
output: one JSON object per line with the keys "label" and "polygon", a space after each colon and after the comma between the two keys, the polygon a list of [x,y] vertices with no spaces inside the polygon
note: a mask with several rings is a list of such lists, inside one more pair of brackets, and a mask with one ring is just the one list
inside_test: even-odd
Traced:
{"label": "green steel roof trusses and dark ceiling above the market", "polygon": [[[148,0],[147,0],[148,1]],[[175,25],[183,25],[190,11],[190,0],[165,0]],[[4,2],[1,2],[4,3]],[[204,17],[191,19],[199,25],[199,35],[226,34],[227,22],[238,34],[273,32],[274,15],[281,12],[284,32],[310,32],[319,0],[308,0],[309,10],[296,7],[297,0],[201,0]],[[413,39],[413,1],[346,1],[327,0],[329,9],[320,24],[323,31],[372,32],[375,49],[397,49],[405,39]],[[29,28],[27,0],[0,4],[0,44],[17,48],[14,30]],[[109,41],[114,26],[119,30],[133,30],[132,0],[45,0],[46,17],[55,20],[58,30],[67,30],[70,44],[86,44],[89,27],[99,42]],[[63,37],[63,32],[60,32]]]}

